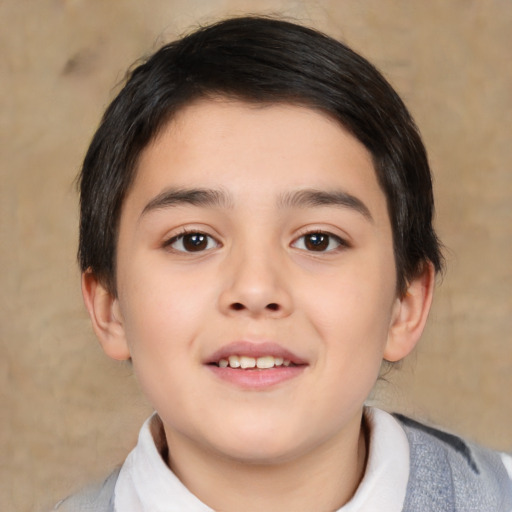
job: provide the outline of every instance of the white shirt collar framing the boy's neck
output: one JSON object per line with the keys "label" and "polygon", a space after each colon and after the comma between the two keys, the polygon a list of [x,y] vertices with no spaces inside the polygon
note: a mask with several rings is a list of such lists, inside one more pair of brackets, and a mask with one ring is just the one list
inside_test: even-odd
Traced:
{"label": "white shirt collar framing the boy's neck", "polygon": [[[336,512],[401,512],[409,478],[409,443],[390,414],[366,408],[370,432],[363,480],[352,499]],[[212,512],[194,496],[166,465],[151,433],[159,431],[156,413],[148,418],[137,446],[124,462],[115,488],[117,512]],[[163,435],[160,433],[160,435]],[[512,457],[503,454],[512,480]],[[171,505],[172,504],[172,507]]]}

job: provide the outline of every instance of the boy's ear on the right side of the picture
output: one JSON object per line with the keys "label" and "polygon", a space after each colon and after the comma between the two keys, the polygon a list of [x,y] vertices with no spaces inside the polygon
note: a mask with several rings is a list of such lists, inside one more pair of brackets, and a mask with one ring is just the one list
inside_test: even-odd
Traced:
{"label": "boy's ear on the right side of the picture", "polygon": [[431,263],[407,287],[403,297],[396,299],[384,351],[386,361],[400,361],[407,356],[421,337],[434,292],[435,271]]}

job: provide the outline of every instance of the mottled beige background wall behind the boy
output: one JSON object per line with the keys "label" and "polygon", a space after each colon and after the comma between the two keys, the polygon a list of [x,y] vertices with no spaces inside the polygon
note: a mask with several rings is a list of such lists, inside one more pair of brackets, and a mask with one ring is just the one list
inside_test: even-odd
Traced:
{"label": "mottled beige background wall behind the boy", "polygon": [[448,273],[388,407],[512,450],[510,0],[0,1],[0,509],[48,506],[120,462],[149,409],[91,333],[73,180],[125,69],[224,14],[340,37],[397,87],[435,173]]}

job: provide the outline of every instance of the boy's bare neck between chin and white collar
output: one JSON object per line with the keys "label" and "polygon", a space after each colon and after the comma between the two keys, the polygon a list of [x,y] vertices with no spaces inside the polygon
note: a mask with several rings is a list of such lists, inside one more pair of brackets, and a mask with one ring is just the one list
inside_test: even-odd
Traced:
{"label": "boy's bare neck between chin and white collar", "polygon": [[[343,434],[285,462],[248,463],[166,429],[167,462],[203,503],[223,512],[332,511],[354,495],[366,465],[367,442],[361,420]],[[319,492],[321,489],[321,492]]]}

